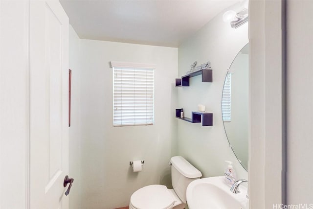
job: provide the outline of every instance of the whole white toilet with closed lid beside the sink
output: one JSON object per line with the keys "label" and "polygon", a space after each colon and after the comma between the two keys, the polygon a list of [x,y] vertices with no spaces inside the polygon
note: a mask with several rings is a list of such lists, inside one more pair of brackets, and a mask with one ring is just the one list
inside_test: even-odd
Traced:
{"label": "whole white toilet with closed lid beside the sink", "polygon": [[144,186],[133,193],[130,209],[183,209],[186,206],[186,190],[190,182],[200,179],[201,172],[181,156],[171,158],[172,186]]}

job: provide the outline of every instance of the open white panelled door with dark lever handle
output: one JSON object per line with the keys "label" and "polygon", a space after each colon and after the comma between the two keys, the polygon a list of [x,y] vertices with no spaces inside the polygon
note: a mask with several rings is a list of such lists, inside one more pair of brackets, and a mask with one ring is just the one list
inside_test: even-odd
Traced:
{"label": "open white panelled door with dark lever handle", "polygon": [[29,23],[30,209],[68,209],[68,18],[58,0],[31,0]]}

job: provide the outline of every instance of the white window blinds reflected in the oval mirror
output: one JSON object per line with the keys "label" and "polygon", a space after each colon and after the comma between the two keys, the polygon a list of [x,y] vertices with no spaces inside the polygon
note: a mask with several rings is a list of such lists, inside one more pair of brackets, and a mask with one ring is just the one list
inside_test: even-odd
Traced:
{"label": "white window blinds reflected in the oval mirror", "polygon": [[223,88],[222,115],[224,122],[231,120],[231,73],[228,72]]}

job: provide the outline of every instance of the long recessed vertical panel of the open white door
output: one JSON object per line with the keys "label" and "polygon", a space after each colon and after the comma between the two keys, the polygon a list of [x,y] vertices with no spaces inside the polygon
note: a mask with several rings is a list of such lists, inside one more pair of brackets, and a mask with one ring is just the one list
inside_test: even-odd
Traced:
{"label": "long recessed vertical panel of the open white door", "polygon": [[49,175],[50,181],[62,174],[62,23],[45,5],[46,70],[49,76]]}

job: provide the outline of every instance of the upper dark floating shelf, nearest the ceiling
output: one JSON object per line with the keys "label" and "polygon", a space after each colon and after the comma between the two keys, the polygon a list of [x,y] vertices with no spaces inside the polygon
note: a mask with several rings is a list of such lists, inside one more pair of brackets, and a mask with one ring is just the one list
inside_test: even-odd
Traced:
{"label": "upper dark floating shelf, nearest the ceiling", "polygon": [[212,82],[213,81],[212,72],[213,72],[212,69],[207,69],[207,70],[198,70],[190,74],[183,75],[181,76],[181,78],[176,78],[176,87],[189,86],[189,78],[197,75],[202,76],[202,82]]}

